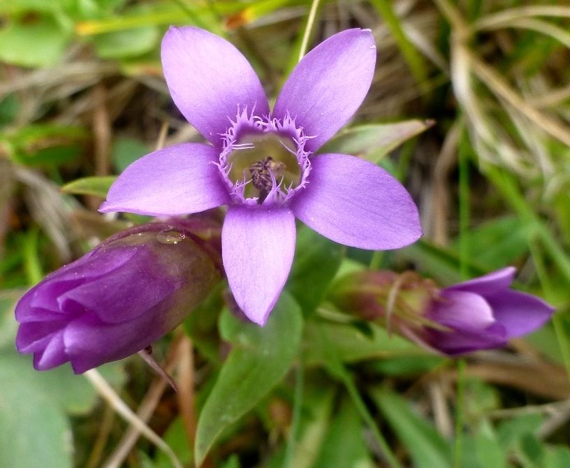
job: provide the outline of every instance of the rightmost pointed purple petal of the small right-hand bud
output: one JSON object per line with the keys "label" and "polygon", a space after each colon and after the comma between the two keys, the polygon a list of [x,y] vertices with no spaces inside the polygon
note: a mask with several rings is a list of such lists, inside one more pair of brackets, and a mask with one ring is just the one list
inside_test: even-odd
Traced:
{"label": "rightmost pointed purple petal of the small right-hand bud", "polygon": [[495,319],[509,338],[520,337],[541,328],[554,312],[543,300],[519,291],[501,291],[487,297]]}

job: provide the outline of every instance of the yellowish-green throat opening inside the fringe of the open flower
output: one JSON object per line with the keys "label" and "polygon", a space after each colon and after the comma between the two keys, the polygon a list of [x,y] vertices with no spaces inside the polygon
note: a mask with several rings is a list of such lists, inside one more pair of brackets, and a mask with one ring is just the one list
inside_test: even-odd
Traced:
{"label": "yellowish-green throat opening inside the fringe of the open flower", "polygon": [[274,188],[282,193],[291,191],[298,187],[302,176],[297,146],[277,133],[244,135],[227,156],[228,178],[244,187],[244,198],[257,198],[258,204]]}

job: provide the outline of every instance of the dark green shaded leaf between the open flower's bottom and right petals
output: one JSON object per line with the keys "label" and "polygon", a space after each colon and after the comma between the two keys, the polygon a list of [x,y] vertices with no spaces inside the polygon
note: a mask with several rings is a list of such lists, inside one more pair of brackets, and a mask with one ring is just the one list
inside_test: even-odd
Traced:
{"label": "dark green shaded leaf between the open flower's bottom and right petals", "polygon": [[[286,288],[305,314],[314,312],[342,261],[342,245],[307,226],[297,230],[295,261]],[[310,288],[307,285],[311,285]]]}

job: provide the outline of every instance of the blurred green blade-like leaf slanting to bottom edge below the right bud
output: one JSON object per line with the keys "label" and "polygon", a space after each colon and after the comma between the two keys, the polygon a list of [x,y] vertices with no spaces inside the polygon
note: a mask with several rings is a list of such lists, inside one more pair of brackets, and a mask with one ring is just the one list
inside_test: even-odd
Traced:
{"label": "blurred green blade-like leaf slanting to bottom edge below the right bud", "polygon": [[409,403],[388,388],[372,388],[370,395],[417,468],[451,468],[451,446]]}

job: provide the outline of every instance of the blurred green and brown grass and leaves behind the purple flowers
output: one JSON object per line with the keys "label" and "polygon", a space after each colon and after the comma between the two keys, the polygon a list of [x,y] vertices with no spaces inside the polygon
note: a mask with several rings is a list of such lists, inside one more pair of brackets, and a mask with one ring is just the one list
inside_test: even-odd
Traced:
{"label": "blurred green and brown grass and leaves behind the purple flowers", "polygon": [[[274,98],[307,28],[312,45],[372,29],[372,88],[330,145],[400,178],[425,237],[373,254],[301,229],[263,332],[217,291],[156,345],[179,393],[137,357],[104,381],[36,372],[14,349],[17,298],[144,220],[96,212],[112,175],[200,138],[161,75],[170,24],[228,38]],[[569,467],[569,47],[570,7],[539,0],[1,1],[0,467]],[[327,316],[337,270],[363,265],[441,285],[515,265],[517,287],[558,312],[458,365]],[[171,451],[117,416],[122,402]]]}

